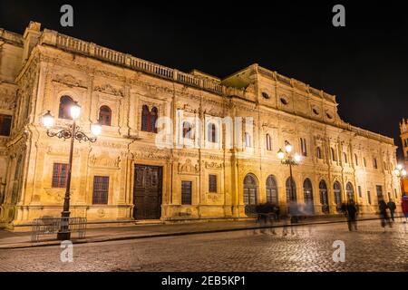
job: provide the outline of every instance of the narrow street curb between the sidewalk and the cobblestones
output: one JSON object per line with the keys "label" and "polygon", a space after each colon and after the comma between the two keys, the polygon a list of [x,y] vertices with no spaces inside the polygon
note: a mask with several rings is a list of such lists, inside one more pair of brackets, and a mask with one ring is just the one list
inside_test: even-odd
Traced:
{"label": "narrow street curb between the sidewalk and the cobblestones", "polygon": [[[399,217],[395,217],[399,218]],[[357,221],[368,221],[368,220],[377,220],[380,218],[362,218],[358,219]],[[131,239],[142,239],[142,238],[152,238],[152,237],[179,237],[179,236],[188,236],[188,235],[199,235],[199,234],[214,234],[214,233],[222,233],[222,232],[235,232],[235,231],[242,231],[242,230],[254,230],[260,228],[276,228],[276,227],[300,227],[300,226],[307,226],[307,225],[325,225],[325,224],[338,224],[338,223],[345,223],[345,220],[336,220],[336,221],[317,221],[317,222],[308,222],[308,223],[299,223],[299,224],[292,224],[292,225],[276,225],[276,226],[267,226],[267,227],[238,227],[238,228],[218,228],[218,229],[209,229],[209,230],[198,230],[198,231],[181,231],[181,232],[173,232],[173,233],[163,233],[163,234],[147,234],[141,236],[122,236],[122,237],[95,237],[95,238],[85,238],[85,239],[76,239],[73,240],[73,244],[88,244],[88,243],[103,243],[103,242],[111,242],[111,241],[122,241],[122,240],[131,240]],[[0,246],[0,250],[2,249],[17,249],[17,248],[30,248],[30,247],[53,247],[53,246],[60,246],[61,241],[48,241],[48,242],[39,242],[39,243],[20,243],[19,245],[10,245],[2,247]]]}

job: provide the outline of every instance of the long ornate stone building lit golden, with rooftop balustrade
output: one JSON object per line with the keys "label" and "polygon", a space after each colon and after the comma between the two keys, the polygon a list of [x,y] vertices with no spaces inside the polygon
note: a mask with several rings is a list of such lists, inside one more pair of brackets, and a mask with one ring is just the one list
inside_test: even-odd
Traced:
{"label": "long ornate stone building lit golden, with rooftop balustrade", "polygon": [[[245,218],[257,202],[285,208],[290,197],[327,214],[347,196],[368,213],[377,195],[400,201],[393,139],[342,121],[333,95],[257,64],[224,79],[181,73],[30,23],[24,35],[0,30],[3,227],[60,216],[69,142],[48,137],[42,116],[49,110],[56,126],[66,127],[71,102],[82,107],[86,133],[102,121],[95,143],[74,145],[73,217]],[[180,127],[180,110],[203,125]],[[200,146],[158,147],[155,121],[163,116],[173,122],[174,143]],[[215,117],[252,117],[254,130],[231,131]],[[303,156],[293,171],[294,195],[289,169],[277,159],[285,140]]]}

